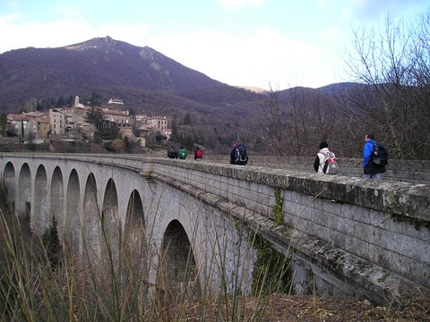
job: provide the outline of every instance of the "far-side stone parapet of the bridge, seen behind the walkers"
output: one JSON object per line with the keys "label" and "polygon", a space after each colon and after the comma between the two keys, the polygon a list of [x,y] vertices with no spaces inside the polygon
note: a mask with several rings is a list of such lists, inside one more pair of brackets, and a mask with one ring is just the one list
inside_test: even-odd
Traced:
{"label": "far-side stone parapet of the bridge, seen behind the walkers", "polygon": [[[228,156],[205,155],[206,161],[228,164]],[[340,175],[360,177],[363,174],[363,159],[338,157]],[[293,171],[314,173],[314,157],[250,156],[248,165],[273,167]],[[390,160],[384,180],[430,184],[430,161]]]}

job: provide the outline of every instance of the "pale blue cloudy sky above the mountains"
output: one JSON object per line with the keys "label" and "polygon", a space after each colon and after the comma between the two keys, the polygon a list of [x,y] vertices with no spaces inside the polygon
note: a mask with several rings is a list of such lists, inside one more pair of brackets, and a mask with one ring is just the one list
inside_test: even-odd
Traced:
{"label": "pale blue cloudy sky above the mountains", "polygon": [[0,0],[0,54],[109,36],[231,86],[349,81],[357,28],[417,21],[428,0]]}

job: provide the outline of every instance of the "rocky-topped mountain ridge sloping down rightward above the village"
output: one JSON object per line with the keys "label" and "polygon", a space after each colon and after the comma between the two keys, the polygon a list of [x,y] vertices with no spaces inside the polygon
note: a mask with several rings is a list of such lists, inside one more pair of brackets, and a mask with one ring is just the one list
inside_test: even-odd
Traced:
{"label": "rocky-topped mountain ridge sloping down rightward above the village", "polygon": [[193,89],[231,88],[155,49],[134,47],[110,37],[65,47],[6,52],[0,55],[0,85],[2,110],[11,110],[31,99],[90,95],[98,90],[106,92],[107,88],[119,89],[123,96],[126,89],[177,95]]}

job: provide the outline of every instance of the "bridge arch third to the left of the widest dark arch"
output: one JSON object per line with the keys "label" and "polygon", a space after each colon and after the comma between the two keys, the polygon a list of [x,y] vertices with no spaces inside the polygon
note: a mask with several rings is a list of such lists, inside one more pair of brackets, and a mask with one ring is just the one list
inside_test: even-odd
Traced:
{"label": "bridge arch third to the left of the widest dark arch", "polygon": [[94,174],[89,174],[83,194],[82,248],[90,262],[99,258],[99,225],[101,211],[97,199],[97,184]]}

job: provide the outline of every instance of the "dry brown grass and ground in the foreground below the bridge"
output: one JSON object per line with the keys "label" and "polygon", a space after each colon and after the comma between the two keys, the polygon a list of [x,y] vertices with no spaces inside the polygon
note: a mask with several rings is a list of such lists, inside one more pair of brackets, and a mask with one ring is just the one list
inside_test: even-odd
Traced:
{"label": "dry brown grass and ground in the foreground below the bridge", "polygon": [[[272,294],[184,299],[175,307],[149,301],[142,276],[94,272],[64,258],[51,270],[26,218],[2,204],[0,320],[4,321],[430,321],[430,299],[414,294],[387,307],[364,299]],[[130,268],[130,267],[128,267]],[[125,267],[127,269],[127,267]],[[115,283],[114,283],[115,282]],[[116,284],[116,288],[113,285]],[[6,304],[7,303],[7,304]]]}

